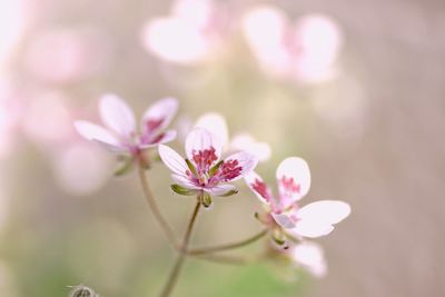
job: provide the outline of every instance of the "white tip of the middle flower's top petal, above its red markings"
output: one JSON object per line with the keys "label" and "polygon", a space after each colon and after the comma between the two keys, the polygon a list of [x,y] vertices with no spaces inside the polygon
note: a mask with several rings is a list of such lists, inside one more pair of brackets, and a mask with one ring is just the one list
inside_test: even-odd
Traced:
{"label": "white tip of the middle flower's top petal, above its red markings", "polygon": [[186,154],[188,159],[194,159],[194,152],[208,150],[210,148],[215,149],[215,155],[217,160],[219,160],[221,156],[221,142],[218,137],[204,128],[195,128],[188,133],[186,139]]}

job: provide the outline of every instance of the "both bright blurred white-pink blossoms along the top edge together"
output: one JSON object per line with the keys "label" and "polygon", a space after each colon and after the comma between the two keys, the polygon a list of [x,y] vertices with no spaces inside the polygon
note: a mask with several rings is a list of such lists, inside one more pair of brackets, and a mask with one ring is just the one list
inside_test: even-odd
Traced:
{"label": "both bright blurred white-pink blossoms along the top edge together", "polygon": [[141,39],[159,59],[196,65],[218,56],[238,29],[267,75],[299,82],[325,81],[336,75],[342,31],[320,13],[293,23],[274,6],[239,11],[214,0],[176,0],[169,16],[147,22]]}

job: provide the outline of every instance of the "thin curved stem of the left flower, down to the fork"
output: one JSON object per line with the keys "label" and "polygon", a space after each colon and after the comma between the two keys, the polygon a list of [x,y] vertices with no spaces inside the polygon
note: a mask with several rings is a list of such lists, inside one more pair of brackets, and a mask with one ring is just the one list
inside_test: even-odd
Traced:
{"label": "thin curved stem of the left flower, down to the fork", "polygon": [[170,225],[168,225],[167,220],[164,218],[155,200],[155,196],[152,195],[150,185],[148,184],[145,168],[142,166],[139,166],[138,169],[139,169],[138,172],[139,172],[140,184],[142,186],[144,196],[146,197],[147,202],[150,206],[151,212],[154,214],[156,221],[159,224],[162,231],[166,234],[168,240],[174,246],[174,248],[179,249],[179,244],[176,239],[175,232],[172,231]]}

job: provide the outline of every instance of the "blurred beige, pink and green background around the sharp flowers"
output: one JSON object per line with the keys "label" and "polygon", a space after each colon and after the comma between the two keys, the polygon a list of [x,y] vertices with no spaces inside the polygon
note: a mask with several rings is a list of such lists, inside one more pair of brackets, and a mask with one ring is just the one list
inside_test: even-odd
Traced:
{"label": "blurred beige, pink and green background around the sharp flowers", "polygon": [[[140,116],[175,96],[180,137],[217,111],[230,136],[271,148],[269,181],[307,159],[303,204],[343,199],[349,218],[317,240],[322,279],[274,264],[189,260],[176,296],[444,296],[445,6],[442,1],[0,0],[0,296],[156,296],[175,258],[135,172],[82,140],[78,118],[116,92]],[[154,190],[178,235],[192,199]],[[194,244],[260,226],[257,199],[218,199]],[[253,253],[261,244],[236,254]]]}

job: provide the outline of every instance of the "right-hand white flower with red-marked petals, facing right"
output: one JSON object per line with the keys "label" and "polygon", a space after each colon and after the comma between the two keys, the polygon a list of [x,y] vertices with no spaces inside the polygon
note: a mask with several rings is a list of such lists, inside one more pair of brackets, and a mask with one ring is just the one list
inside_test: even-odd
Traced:
{"label": "right-hand white flower with red-marked petals, facing right", "polygon": [[[298,201],[310,188],[310,172],[306,161],[290,157],[281,161],[276,171],[278,196],[256,174],[245,177],[246,184],[267,206],[265,217],[258,217],[274,229],[274,239],[285,245],[286,236],[320,237],[333,231],[335,224],[350,214],[348,204],[338,200],[320,200],[299,207]],[[284,231],[283,231],[284,230]]]}

